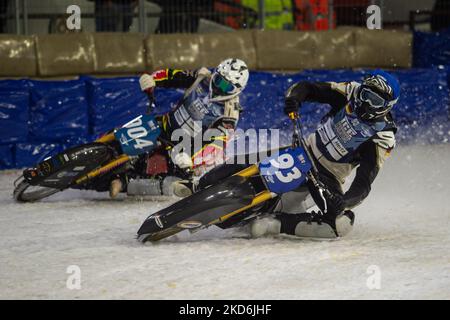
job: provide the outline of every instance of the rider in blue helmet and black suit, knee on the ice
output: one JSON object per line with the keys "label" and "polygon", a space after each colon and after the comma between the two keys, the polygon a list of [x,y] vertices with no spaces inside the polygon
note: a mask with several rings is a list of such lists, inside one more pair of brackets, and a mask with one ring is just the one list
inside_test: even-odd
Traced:
{"label": "rider in blue helmet and black suit, knee on the ice", "polygon": [[[331,195],[321,197],[313,184],[308,183],[319,212],[306,212],[307,208],[295,201],[295,192],[282,195],[274,214],[252,222],[252,236],[282,233],[336,238],[347,234],[355,219],[350,210],[369,195],[372,182],[395,147],[397,129],[390,111],[399,95],[398,80],[382,70],[368,74],[362,83],[299,82],[292,85],[285,95],[286,114],[301,111],[303,102],[331,106],[316,131],[307,138],[320,180]],[[355,169],[355,178],[344,193],[344,181]],[[322,199],[326,199],[326,203]]]}

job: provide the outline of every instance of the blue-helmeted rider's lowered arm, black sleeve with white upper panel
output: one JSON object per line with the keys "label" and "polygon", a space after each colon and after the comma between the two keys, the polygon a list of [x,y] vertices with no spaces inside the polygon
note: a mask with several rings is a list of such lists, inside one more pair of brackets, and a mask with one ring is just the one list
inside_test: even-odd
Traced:
{"label": "blue-helmeted rider's lowered arm, black sleeve with white upper panel", "polygon": [[349,190],[344,195],[347,209],[359,205],[369,195],[373,181],[394,147],[393,131],[379,132],[374,139],[361,145],[360,165]]}

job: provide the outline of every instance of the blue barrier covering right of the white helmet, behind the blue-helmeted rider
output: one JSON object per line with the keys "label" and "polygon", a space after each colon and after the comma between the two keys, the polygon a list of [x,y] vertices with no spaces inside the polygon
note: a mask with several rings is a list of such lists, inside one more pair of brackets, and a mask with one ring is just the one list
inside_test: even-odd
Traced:
{"label": "blue barrier covering right of the white helmet, behind the blue-helmeted rider", "polygon": [[[397,139],[402,143],[448,142],[449,87],[445,69],[412,69],[393,72],[401,82],[401,97],[394,109],[399,126]],[[360,81],[366,71],[305,71],[294,75],[252,73],[243,95],[245,112],[239,124],[242,128],[290,128],[284,116],[283,96],[288,87],[298,81]],[[329,107],[304,103],[302,123],[312,132]],[[437,125],[438,123],[438,125]]]}

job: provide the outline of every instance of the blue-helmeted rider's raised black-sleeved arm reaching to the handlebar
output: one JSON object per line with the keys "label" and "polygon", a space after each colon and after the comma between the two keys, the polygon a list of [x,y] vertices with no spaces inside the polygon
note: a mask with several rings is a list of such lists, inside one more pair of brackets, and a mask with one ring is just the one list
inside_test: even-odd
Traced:
{"label": "blue-helmeted rider's raised black-sleeved arm reaching to the handlebar", "polygon": [[306,82],[292,85],[286,92],[285,99],[292,100],[297,105],[302,102],[319,102],[342,108],[348,102],[347,92],[351,84],[347,82]]}

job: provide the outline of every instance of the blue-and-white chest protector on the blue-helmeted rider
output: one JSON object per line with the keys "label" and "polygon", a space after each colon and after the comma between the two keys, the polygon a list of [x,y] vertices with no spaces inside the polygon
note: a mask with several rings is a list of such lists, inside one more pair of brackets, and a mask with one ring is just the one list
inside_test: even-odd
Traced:
{"label": "blue-and-white chest protector on the blue-helmeted rider", "polygon": [[335,115],[325,117],[316,130],[316,144],[329,161],[351,163],[361,144],[387,126],[385,121],[366,122],[347,105]]}

